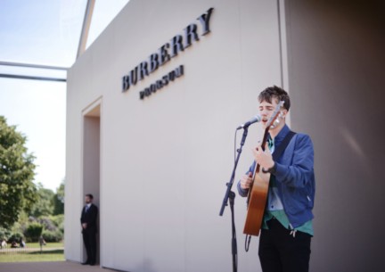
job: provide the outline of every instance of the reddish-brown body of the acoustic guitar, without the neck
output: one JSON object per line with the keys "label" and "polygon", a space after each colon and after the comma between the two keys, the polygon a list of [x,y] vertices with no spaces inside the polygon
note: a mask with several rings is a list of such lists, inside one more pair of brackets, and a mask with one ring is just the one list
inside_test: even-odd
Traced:
{"label": "reddish-brown body of the acoustic guitar, without the neck", "polygon": [[270,173],[268,172],[258,171],[254,176],[253,186],[249,192],[250,199],[246,222],[243,228],[243,234],[245,235],[259,235],[265,213],[269,180]]}

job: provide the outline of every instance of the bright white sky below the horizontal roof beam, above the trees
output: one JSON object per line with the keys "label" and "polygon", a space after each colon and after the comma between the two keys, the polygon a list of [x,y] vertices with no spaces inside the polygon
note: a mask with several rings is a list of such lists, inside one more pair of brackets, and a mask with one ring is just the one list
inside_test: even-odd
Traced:
{"label": "bright white sky below the horizontal roof beam, above the trees", "polygon": [[0,78],[0,115],[27,137],[35,183],[54,192],[65,178],[66,84]]}

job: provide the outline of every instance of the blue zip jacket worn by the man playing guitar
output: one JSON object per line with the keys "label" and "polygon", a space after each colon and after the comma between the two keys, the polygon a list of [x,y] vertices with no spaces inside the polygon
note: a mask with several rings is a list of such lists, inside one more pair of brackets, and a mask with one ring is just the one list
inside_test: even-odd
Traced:
{"label": "blue zip jacket worn by the man playing guitar", "polygon": [[[284,126],[274,138],[275,148],[282,143],[290,128]],[[296,134],[286,147],[281,158],[275,162],[274,172],[278,195],[283,202],[285,211],[292,227],[299,227],[314,218],[313,207],[315,200],[314,149],[309,136]],[[254,161],[249,171],[253,173],[256,167]],[[243,190],[238,183],[238,192],[247,196],[248,190]]]}

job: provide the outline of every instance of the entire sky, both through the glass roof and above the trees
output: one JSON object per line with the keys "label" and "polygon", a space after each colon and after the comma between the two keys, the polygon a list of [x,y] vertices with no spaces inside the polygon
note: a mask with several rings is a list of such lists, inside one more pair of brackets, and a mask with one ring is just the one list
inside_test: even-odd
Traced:
{"label": "entire sky, both through the glass roof and above the trees", "polygon": [[[96,0],[87,47],[129,0]],[[86,0],[0,0],[0,62],[69,68],[76,62]],[[1,65],[0,74],[66,78],[63,70]],[[35,183],[65,179],[66,83],[0,78],[0,115],[27,137]]]}

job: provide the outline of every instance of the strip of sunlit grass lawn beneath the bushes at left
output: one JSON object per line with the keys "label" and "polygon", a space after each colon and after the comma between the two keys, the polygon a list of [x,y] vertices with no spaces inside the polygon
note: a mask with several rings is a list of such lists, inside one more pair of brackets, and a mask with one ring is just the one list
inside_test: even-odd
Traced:
{"label": "strip of sunlit grass lawn beneath the bushes at left", "polygon": [[0,250],[0,262],[60,261],[64,260],[63,243],[47,243],[40,251],[38,243],[27,243],[25,249]]}

